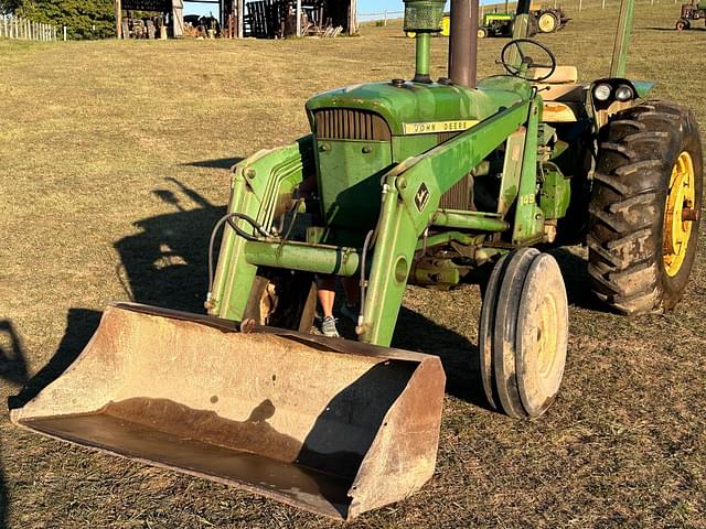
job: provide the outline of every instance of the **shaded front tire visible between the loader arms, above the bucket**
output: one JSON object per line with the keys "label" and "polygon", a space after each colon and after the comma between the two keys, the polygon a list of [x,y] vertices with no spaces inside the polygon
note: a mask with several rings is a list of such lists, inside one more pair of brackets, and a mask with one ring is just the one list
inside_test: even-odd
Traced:
{"label": "shaded front tire visible between the loader arms, above the bucket", "polygon": [[244,319],[258,325],[309,333],[315,309],[317,285],[312,274],[259,269]]}

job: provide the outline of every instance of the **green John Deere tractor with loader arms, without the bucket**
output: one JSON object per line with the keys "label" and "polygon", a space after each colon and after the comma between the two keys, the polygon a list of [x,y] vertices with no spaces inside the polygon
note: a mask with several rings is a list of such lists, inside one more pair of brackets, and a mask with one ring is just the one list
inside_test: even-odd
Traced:
{"label": "green John Deere tractor with loader arms, without the bucket", "polygon": [[[314,96],[310,136],[237,165],[207,307],[303,331],[313,276],[353,277],[359,341],[388,346],[407,284],[448,289],[493,267],[479,333],[485,393],[535,417],[556,396],[567,335],[564,283],[544,250],[587,245],[592,290],[614,311],[673,309],[696,251],[698,127],[689,110],[648,101],[652,83],[624,76],[630,1],[610,75],[591,83],[524,36],[526,1],[501,53],[505,75],[478,82],[452,7],[449,77],[435,82],[429,40],[443,2],[405,3],[410,80]],[[304,201],[307,179],[318,191]]]}

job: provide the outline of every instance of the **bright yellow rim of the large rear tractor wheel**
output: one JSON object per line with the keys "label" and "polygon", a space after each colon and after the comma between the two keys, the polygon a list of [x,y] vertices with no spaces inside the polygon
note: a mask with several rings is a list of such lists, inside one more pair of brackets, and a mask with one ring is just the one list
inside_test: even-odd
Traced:
{"label": "bright yellow rim of the large rear tractor wheel", "polygon": [[696,219],[694,204],[696,202],[696,182],[694,179],[694,161],[684,151],[676,159],[670,179],[670,192],[664,212],[664,269],[671,278],[680,273]]}

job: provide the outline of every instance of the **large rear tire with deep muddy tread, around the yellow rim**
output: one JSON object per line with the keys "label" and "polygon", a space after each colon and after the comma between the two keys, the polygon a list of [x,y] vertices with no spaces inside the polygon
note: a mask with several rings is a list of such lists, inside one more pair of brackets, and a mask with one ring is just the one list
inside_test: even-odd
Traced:
{"label": "large rear tire with deep muddy tread, around the yellow rim", "polygon": [[622,314],[664,312],[683,295],[696,256],[698,218],[681,269],[664,263],[665,208],[677,158],[694,165],[700,216],[703,154],[694,115],[675,104],[652,101],[612,117],[599,137],[589,205],[589,274],[593,292]]}

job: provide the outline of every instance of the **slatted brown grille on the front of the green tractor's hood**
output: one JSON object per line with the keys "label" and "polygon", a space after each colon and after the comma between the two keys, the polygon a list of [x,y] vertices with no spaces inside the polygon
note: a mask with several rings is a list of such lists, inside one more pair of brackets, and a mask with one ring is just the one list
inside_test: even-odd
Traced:
{"label": "slatted brown grille on the front of the green tractor's hood", "polygon": [[328,108],[314,114],[317,138],[322,140],[389,141],[392,132],[377,114],[347,108]]}

